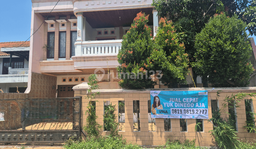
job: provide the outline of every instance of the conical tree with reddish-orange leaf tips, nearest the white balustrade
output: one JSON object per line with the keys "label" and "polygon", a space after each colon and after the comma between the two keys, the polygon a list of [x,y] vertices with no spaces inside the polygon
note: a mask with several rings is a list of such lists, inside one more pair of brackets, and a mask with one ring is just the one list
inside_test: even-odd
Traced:
{"label": "conical tree with reddish-orange leaf tips, nearest the white balustrade", "polygon": [[150,78],[146,59],[150,56],[153,46],[151,29],[147,25],[148,16],[140,12],[123,36],[122,48],[117,57],[117,67],[121,87],[128,89],[153,88],[156,82]]}

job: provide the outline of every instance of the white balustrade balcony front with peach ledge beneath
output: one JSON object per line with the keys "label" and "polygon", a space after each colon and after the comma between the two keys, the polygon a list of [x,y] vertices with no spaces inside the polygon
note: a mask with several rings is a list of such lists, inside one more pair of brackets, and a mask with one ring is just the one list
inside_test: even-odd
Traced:
{"label": "white balustrade balcony front with peach ledge beneath", "polygon": [[122,39],[76,42],[74,68],[90,73],[96,68],[113,70],[119,66],[117,54],[121,46]]}

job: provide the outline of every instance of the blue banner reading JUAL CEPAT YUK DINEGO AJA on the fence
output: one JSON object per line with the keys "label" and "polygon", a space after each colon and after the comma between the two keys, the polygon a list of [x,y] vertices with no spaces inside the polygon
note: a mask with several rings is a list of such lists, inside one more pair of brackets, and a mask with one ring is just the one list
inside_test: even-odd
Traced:
{"label": "blue banner reading JUAL CEPAT YUK DINEGO AJA on the fence", "polygon": [[152,118],[208,118],[208,92],[150,91]]}

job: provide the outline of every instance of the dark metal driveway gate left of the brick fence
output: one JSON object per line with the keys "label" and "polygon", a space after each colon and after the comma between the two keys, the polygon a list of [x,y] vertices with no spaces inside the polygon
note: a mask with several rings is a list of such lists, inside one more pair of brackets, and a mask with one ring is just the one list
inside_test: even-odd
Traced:
{"label": "dark metal driveway gate left of the brick fence", "polygon": [[60,144],[81,132],[81,97],[0,99],[0,144]]}

